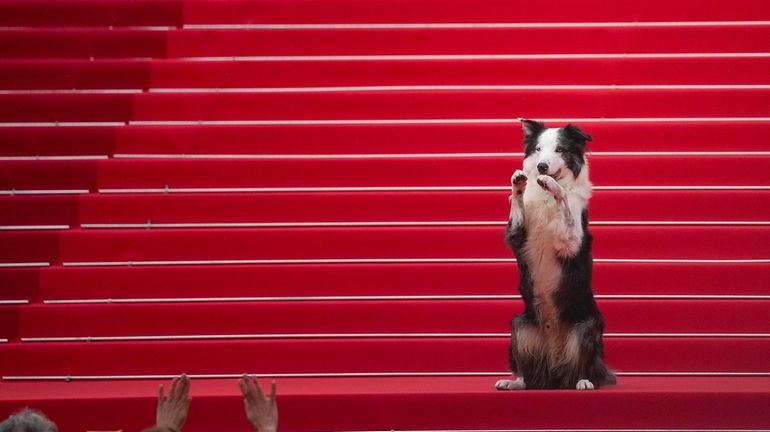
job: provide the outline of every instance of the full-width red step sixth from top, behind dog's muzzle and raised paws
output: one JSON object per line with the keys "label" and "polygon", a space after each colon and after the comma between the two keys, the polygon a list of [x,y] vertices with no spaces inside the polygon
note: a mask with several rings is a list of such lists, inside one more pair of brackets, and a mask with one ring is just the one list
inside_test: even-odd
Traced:
{"label": "full-width red step sixth from top, behind dog's muzzle and raised paws", "polygon": [[[770,156],[590,158],[601,187],[766,186]],[[32,160],[0,164],[0,189],[455,188],[507,190],[521,159],[510,156],[357,159]],[[309,173],[312,173],[310,175]],[[651,173],[655,173],[652,175]],[[717,173],[729,173],[722,175]],[[534,184],[534,182],[533,182]],[[190,190],[192,189],[192,190]],[[237,192],[238,190],[230,190]]]}

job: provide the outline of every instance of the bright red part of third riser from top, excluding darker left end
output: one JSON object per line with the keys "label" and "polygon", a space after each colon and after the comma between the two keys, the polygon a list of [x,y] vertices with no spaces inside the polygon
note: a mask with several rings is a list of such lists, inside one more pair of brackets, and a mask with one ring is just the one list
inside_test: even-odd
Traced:
{"label": "bright red part of third riser from top, excluding darker left end", "polygon": [[[158,88],[765,84],[766,58],[153,61]],[[580,70],[580,73],[575,73]]]}

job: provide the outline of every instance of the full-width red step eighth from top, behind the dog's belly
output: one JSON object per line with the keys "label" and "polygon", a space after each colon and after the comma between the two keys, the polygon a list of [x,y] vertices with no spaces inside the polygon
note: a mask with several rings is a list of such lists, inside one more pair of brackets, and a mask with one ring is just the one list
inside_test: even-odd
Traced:
{"label": "full-width red step eighth from top, behind the dog's belly", "polygon": [[[754,260],[770,256],[770,228],[763,226],[598,226],[591,232],[593,254],[605,260]],[[512,254],[502,233],[502,227],[5,232],[0,234],[0,262],[509,260]]]}

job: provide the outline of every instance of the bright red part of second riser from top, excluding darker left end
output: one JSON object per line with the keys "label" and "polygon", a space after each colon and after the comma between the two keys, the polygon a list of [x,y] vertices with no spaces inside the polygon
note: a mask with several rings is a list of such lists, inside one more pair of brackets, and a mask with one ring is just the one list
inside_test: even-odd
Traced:
{"label": "bright red part of second riser from top, excluding darker left end", "polygon": [[766,25],[184,30],[168,33],[168,56],[764,52],[768,40]]}

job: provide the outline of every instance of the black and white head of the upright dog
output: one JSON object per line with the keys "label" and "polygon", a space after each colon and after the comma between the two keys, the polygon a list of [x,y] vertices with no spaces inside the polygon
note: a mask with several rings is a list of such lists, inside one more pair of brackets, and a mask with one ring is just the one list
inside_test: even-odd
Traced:
{"label": "black and white head of the upright dog", "polygon": [[519,119],[524,129],[524,172],[558,180],[577,179],[586,165],[586,142],[591,135],[577,126],[549,128],[539,121]]}

